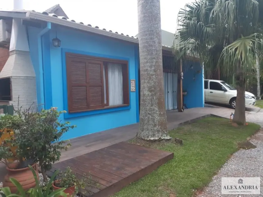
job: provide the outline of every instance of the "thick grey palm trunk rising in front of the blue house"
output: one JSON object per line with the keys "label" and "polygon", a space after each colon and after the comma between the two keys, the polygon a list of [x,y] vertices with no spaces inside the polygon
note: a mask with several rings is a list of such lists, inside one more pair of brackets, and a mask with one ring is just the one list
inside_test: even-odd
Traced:
{"label": "thick grey palm trunk rising in front of the blue house", "polygon": [[160,0],[138,0],[138,30],[141,109],[137,136],[170,139],[164,102]]}

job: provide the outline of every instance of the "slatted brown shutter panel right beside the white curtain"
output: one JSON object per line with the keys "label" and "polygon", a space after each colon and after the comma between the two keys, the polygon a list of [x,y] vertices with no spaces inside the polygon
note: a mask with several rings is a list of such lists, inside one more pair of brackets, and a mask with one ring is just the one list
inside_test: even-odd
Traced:
{"label": "slatted brown shutter panel right beside the white curtain", "polygon": [[104,107],[103,62],[88,60],[89,109]]}

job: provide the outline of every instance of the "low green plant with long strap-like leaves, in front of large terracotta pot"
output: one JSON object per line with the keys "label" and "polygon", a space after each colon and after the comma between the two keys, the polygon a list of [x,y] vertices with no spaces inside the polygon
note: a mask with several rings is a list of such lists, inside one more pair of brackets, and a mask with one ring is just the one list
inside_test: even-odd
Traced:
{"label": "low green plant with long strap-like leaves, in front of large terracotta pot", "polygon": [[35,181],[36,181],[35,188],[31,188],[28,191],[24,191],[22,185],[16,179],[11,177],[10,181],[16,186],[18,190],[18,194],[12,194],[9,187],[4,187],[4,188],[0,188],[0,195],[2,197],[58,197],[58,196],[67,197],[67,194],[63,192],[66,188],[50,191],[52,182],[54,181],[55,176],[59,173],[58,170],[52,175],[50,181],[47,183],[46,191],[43,191],[43,189],[39,185],[39,181],[37,179],[35,170],[30,165],[29,168],[31,169],[35,177]]}

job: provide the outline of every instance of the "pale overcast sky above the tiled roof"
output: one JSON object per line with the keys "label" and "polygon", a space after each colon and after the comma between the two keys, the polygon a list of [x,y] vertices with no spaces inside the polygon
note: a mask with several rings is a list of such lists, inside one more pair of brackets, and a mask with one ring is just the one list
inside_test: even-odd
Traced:
{"label": "pale overcast sky above the tiled roof", "polygon": [[[180,8],[193,0],[160,0],[162,29],[174,33]],[[43,12],[60,4],[70,19],[125,35],[138,33],[137,0],[23,0],[25,10]],[[13,0],[0,0],[1,9],[12,9]]]}

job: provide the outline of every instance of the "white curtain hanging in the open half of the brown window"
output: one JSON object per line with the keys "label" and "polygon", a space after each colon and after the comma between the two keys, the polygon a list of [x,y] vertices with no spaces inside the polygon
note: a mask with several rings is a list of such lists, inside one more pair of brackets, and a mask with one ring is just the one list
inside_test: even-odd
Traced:
{"label": "white curtain hanging in the open half of the brown window", "polygon": [[109,106],[123,104],[121,64],[108,63]]}

